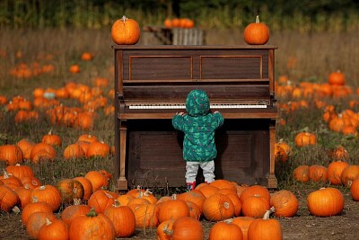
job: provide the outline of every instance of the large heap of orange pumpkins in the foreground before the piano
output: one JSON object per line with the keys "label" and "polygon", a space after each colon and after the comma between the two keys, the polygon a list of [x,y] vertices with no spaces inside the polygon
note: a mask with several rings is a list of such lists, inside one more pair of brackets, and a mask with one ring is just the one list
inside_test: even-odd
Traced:
{"label": "large heap of orange pumpkins in the foreground before the piano", "polygon": [[[299,208],[291,191],[270,194],[260,185],[215,180],[157,198],[140,187],[124,194],[109,191],[111,177],[90,171],[55,185],[34,185],[29,166],[9,165],[0,178],[0,208],[21,213],[31,239],[115,239],[134,236],[136,228],[155,228],[156,239],[198,240],[204,239],[202,219],[214,223],[212,240],[282,239],[282,227],[270,214],[292,218]],[[314,216],[334,216],[343,210],[344,198],[328,188],[311,192],[307,204]]]}

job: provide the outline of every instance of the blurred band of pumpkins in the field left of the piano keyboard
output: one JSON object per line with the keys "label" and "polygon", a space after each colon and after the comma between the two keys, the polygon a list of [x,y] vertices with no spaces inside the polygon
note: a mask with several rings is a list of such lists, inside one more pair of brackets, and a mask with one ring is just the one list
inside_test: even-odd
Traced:
{"label": "blurred band of pumpkins in the field left of the piano keyboard", "polygon": [[[109,85],[109,79],[95,77],[93,86],[68,82],[58,89],[37,87],[33,90],[34,100],[31,102],[21,95],[13,96],[8,101],[0,95],[0,105],[6,111],[15,111],[16,123],[39,120],[39,111],[45,111],[52,124],[65,125],[79,129],[90,129],[96,117],[96,111],[102,109],[106,115],[114,113],[114,106],[109,104],[104,96],[103,88]],[[113,90],[108,93],[113,98]],[[60,100],[73,99],[83,104],[83,107],[70,107]]]}

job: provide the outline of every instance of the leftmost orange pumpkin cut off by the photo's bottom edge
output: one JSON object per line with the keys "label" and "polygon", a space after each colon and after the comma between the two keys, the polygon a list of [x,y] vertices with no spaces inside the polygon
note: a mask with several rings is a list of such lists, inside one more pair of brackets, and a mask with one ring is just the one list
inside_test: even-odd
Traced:
{"label": "leftmost orange pumpkin cut off by the photo's bottom edge", "polygon": [[39,240],[63,240],[68,239],[68,226],[61,219],[46,218],[46,223],[39,228]]}

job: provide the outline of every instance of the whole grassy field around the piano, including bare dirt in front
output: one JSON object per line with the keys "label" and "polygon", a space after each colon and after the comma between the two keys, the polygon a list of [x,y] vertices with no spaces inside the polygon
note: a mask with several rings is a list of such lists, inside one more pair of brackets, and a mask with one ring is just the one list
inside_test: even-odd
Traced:
{"label": "whole grassy field around the piano, including bare dirt in front", "polygon": [[[227,38],[219,36],[227,36]],[[150,38],[150,36],[144,34],[139,44],[144,41],[144,38]],[[337,186],[346,199],[345,209],[341,215],[330,218],[314,217],[307,209],[306,197],[311,191],[328,187],[330,184],[328,182],[295,182],[292,173],[293,169],[301,164],[328,166],[333,161],[333,156],[329,156],[328,152],[337,146],[346,148],[349,155],[346,158],[348,164],[357,164],[359,149],[356,134],[344,135],[329,129],[328,123],[322,119],[324,107],[318,107],[318,102],[335,106],[337,113],[347,109],[358,111],[356,89],[359,86],[357,81],[359,79],[357,67],[359,49],[355,48],[358,41],[354,33],[275,32],[268,43],[278,46],[276,80],[278,86],[283,86],[282,89],[278,88],[276,95],[281,108],[276,140],[283,139],[292,147],[293,152],[285,163],[276,165],[278,189],[291,190],[300,200],[300,208],[294,218],[278,218],[283,227],[284,239],[357,239],[359,208],[357,202],[352,200],[348,188]],[[206,43],[208,45],[245,44],[240,31],[207,31]],[[97,89],[101,91],[107,102],[95,108],[93,124],[89,128],[53,124],[48,119],[45,109],[39,110],[38,120],[14,121],[17,111],[8,111],[6,104],[0,103],[0,145],[15,144],[22,138],[40,142],[42,136],[50,129],[62,137],[62,146],[56,148],[57,156],[54,161],[40,161],[38,164],[30,161],[24,163],[31,165],[35,175],[43,184],[55,184],[58,179],[83,176],[92,170],[104,169],[113,173],[113,156],[74,160],[64,160],[62,156],[65,147],[74,143],[83,134],[92,134],[109,146],[114,145],[114,115],[113,111],[107,109],[113,101],[113,95],[110,92],[113,84],[111,44],[109,29],[2,30],[0,35],[0,95],[4,95],[8,100],[16,99],[16,96],[20,95],[33,102],[33,92],[36,88],[58,89],[69,82],[93,87],[96,78],[109,79],[109,85],[101,85],[100,89]],[[94,56],[91,61],[80,58],[85,51]],[[81,69],[77,74],[72,74],[68,70],[74,64],[79,65]],[[53,66],[53,70],[39,71],[36,74],[36,69],[48,65]],[[13,69],[16,67],[29,68],[30,76],[27,76],[26,72],[22,72],[22,75],[14,75]],[[309,89],[308,85],[327,83],[329,74],[337,69],[345,73],[346,84],[352,93],[338,94],[337,97],[304,94],[306,93],[304,91]],[[285,79],[284,76],[291,81],[290,86],[284,80],[279,82],[280,79]],[[289,89],[287,92],[283,90],[285,85]],[[299,92],[293,94],[294,87],[301,89],[300,94]],[[295,107],[297,105],[294,103],[300,101],[305,101],[306,105]],[[61,102],[66,106],[78,108],[85,105],[85,101],[74,101],[74,99],[62,99]],[[317,136],[316,145],[296,147],[294,137],[304,130]],[[2,169],[6,167],[4,162],[0,166]],[[109,190],[113,189],[113,182],[110,182]],[[203,223],[207,236],[213,223],[205,220]],[[137,229],[136,236],[132,238],[154,239],[154,232],[153,229],[147,229],[145,232]],[[28,238],[20,222],[20,215],[0,213],[0,238]]]}

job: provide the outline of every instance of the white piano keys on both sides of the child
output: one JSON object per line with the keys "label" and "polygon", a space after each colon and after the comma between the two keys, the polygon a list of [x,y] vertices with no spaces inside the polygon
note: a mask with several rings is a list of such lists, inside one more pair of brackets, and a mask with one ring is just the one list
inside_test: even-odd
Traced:
{"label": "white piano keys on both sides of the child", "polygon": [[[129,105],[129,109],[186,109],[185,105]],[[211,109],[265,109],[266,104],[211,104]]]}

